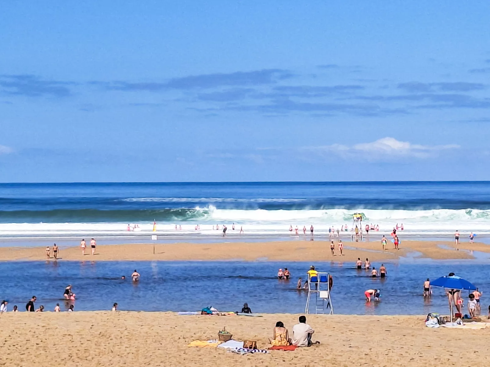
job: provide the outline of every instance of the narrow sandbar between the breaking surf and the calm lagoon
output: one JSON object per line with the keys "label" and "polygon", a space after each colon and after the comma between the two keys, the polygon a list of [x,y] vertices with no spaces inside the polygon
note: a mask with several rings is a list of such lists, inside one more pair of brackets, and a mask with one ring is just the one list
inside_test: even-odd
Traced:
{"label": "narrow sandbar between the breaking surf and the calm lagoon", "polygon": [[[343,256],[339,255],[335,240],[335,255],[332,256],[329,241],[275,241],[248,243],[175,243],[175,244],[125,244],[98,245],[92,256],[87,248],[82,256],[79,246],[61,248],[60,261],[81,260],[269,260],[269,261],[355,261],[368,257],[371,261],[395,261],[400,256],[413,255],[432,259],[472,259],[472,251],[489,252],[490,246],[482,243],[464,243],[456,249],[450,241],[403,241],[400,250],[383,251],[381,243],[344,242]],[[442,247],[441,247],[442,245]],[[154,253],[153,253],[154,251]],[[0,261],[46,260],[45,247],[0,247]],[[52,252],[51,252],[51,259]]]}

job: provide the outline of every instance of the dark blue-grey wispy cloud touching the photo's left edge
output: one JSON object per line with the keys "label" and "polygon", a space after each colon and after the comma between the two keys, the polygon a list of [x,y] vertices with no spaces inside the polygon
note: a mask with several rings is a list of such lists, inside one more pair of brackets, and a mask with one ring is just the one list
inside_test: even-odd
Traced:
{"label": "dark blue-grey wispy cloud touching the photo's left edge", "polygon": [[25,95],[28,97],[53,96],[66,97],[71,94],[69,86],[74,82],[57,80],[43,80],[35,75],[0,75],[0,87],[2,92],[13,95]]}

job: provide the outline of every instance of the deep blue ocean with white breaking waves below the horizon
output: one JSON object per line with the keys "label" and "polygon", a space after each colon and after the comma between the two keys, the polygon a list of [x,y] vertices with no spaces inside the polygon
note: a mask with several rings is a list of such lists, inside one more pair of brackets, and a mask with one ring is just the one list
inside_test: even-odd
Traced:
{"label": "deep blue ocean with white breaking waves below the horizon", "polygon": [[380,233],[403,224],[402,238],[456,229],[486,236],[490,182],[0,184],[4,241],[123,243],[148,241],[151,234],[205,240],[221,236],[223,225],[228,238],[283,238],[291,236],[290,226],[302,235],[312,225],[321,235],[332,227],[350,231],[354,213]]}

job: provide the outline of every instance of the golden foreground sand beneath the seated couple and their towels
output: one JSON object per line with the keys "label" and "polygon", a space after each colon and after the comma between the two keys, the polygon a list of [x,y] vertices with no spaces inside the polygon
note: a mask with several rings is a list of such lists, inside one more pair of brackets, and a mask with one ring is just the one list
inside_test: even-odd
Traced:
{"label": "golden foreground sand beneath the seated couple and their towels", "polygon": [[292,332],[299,315],[178,316],[169,312],[8,312],[0,315],[1,366],[484,366],[490,329],[424,326],[424,316],[309,315],[322,344],[295,351],[237,355],[189,347],[216,339],[269,346],[276,321]]}

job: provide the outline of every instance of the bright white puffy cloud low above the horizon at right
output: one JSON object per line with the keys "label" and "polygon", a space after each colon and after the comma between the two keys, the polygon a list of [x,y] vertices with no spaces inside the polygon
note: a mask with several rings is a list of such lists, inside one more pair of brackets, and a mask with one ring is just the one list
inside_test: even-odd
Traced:
{"label": "bright white puffy cloud low above the horizon at right", "polygon": [[412,144],[408,141],[400,141],[395,138],[381,138],[370,143],[359,143],[352,146],[343,144],[332,144],[320,147],[306,148],[318,152],[331,152],[347,157],[363,155],[367,158],[393,157],[393,156],[410,156],[425,158],[434,155],[437,151],[446,149],[457,149],[457,144],[448,145],[420,145]]}

